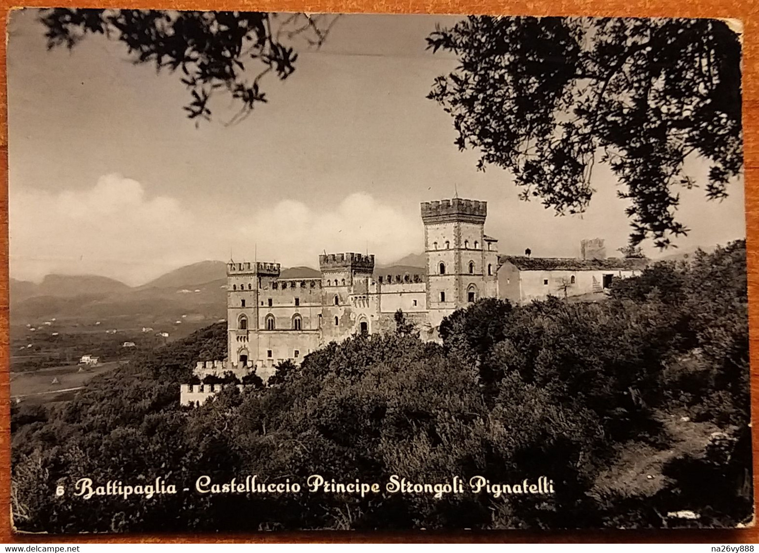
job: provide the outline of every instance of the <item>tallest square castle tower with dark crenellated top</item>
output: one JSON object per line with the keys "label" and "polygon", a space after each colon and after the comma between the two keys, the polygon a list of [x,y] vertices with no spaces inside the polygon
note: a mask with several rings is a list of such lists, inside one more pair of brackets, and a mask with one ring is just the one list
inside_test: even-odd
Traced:
{"label": "tallest square castle tower with dark crenellated top", "polygon": [[497,295],[497,241],[484,232],[487,202],[453,198],[423,202],[430,324],[458,308]]}

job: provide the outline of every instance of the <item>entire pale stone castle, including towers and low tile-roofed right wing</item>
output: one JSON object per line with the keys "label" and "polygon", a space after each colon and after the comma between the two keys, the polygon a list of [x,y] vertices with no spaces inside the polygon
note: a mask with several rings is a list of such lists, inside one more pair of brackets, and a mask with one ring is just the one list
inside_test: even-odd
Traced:
{"label": "entire pale stone castle, including towers and low tile-roofed right wing", "polygon": [[[355,334],[395,328],[402,310],[424,340],[435,340],[447,315],[480,298],[523,303],[546,295],[603,292],[613,278],[634,275],[645,260],[607,259],[603,240],[583,241],[580,259],[499,256],[484,232],[487,202],[453,198],[424,202],[421,275],[379,275],[374,256],[319,256],[320,276],[285,275],[279,264],[227,265],[227,359],[198,362],[195,374],[238,378],[254,370],[269,378],[287,359]],[[219,385],[182,384],[181,403],[202,403]]]}

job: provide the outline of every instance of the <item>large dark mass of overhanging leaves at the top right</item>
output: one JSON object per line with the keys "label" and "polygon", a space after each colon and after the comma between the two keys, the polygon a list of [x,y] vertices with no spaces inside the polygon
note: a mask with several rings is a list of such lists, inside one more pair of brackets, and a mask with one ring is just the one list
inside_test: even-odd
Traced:
{"label": "large dark mass of overhanging leaves at the top right", "polygon": [[581,213],[600,155],[631,201],[631,245],[688,232],[675,217],[677,188],[697,185],[688,156],[710,163],[709,199],[742,171],[741,44],[725,21],[471,16],[427,43],[458,56],[428,97],[480,169],[509,169],[523,199]]}

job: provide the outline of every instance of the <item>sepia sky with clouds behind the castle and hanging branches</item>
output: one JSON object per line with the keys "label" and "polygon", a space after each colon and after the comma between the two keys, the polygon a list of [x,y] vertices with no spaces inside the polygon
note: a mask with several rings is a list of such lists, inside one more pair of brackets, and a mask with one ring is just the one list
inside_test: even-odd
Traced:
{"label": "sepia sky with clouds behind the castle and hanging branches", "polygon": [[[509,172],[476,170],[450,115],[426,99],[456,59],[425,49],[458,17],[344,15],[320,49],[299,50],[269,103],[236,125],[213,104],[196,128],[178,75],[134,65],[121,43],[90,36],[46,49],[36,11],[8,24],[10,273],[98,274],[130,285],[207,259],[317,267],[326,252],[369,251],[390,264],[424,248],[421,201],[488,203],[499,251],[575,257],[581,239],[609,252],[630,232],[618,184],[597,166],[591,206],[556,216],[518,199]],[[698,161],[691,164],[703,175]],[[745,236],[742,180],[721,203],[682,191],[682,250]],[[644,251],[660,255],[650,242]],[[666,251],[664,254],[674,253]]]}

